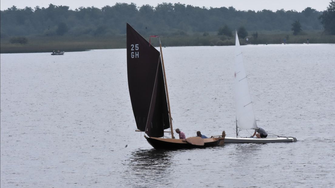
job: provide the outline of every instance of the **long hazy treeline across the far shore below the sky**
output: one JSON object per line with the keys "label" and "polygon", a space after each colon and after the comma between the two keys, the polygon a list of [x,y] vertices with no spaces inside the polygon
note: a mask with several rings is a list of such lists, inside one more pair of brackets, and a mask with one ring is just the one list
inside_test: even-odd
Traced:
{"label": "long hazy treeline across the far shore below the sky", "polygon": [[193,32],[217,32],[223,26],[231,30],[243,26],[249,31],[290,31],[299,20],[302,30],[321,30],[323,12],[311,7],[302,12],[283,9],[275,12],[240,11],[234,7],[205,8],[181,3],[162,3],[156,7],[131,3],[114,6],[80,7],[50,4],[34,9],[15,6],[0,12],[0,37],[11,36],[115,36],[126,33],[126,22],[141,34],[186,35]]}

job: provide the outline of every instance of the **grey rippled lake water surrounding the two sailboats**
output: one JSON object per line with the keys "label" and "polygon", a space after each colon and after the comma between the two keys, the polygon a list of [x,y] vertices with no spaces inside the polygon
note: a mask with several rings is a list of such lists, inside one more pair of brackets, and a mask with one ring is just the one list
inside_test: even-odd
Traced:
{"label": "grey rippled lake water surrounding the two sailboats", "polygon": [[[1,54],[0,186],[334,187],[335,44],[241,49],[257,124],[298,142],[155,151],[134,131],[125,49]],[[163,48],[187,137],[235,136],[234,50]]]}

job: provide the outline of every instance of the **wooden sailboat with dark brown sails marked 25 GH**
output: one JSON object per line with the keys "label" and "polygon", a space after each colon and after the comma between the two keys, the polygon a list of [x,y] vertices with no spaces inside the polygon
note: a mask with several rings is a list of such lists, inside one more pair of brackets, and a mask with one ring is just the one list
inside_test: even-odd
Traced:
{"label": "wooden sailboat with dark brown sails marked 25 GH", "polygon": [[[159,38],[159,36],[151,35]],[[160,52],[127,23],[127,72],[137,131],[154,149],[176,150],[222,146],[225,132],[211,138],[175,139],[162,46]],[[164,131],[169,129],[171,131]],[[171,133],[171,138],[164,136]]]}

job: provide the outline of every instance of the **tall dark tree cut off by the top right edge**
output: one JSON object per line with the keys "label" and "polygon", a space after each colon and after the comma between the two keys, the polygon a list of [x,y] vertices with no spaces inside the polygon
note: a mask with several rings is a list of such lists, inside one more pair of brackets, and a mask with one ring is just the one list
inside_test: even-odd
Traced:
{"label": "tall dark tree cut off by the top right edge", "polygon": [[319,17],[326,32],[335,35],[335,1],[330,1],[327,10]]}

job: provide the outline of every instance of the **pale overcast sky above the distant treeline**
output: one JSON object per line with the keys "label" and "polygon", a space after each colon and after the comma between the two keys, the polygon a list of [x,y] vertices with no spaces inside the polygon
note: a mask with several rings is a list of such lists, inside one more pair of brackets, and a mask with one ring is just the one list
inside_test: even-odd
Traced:
{"label": "pale overcast sky above the distant treeline", "polygon": [[138,7],[144,4],[149,4],[156,7],[157,4],[162,2],[167,3],[182,3],[185,5],[199,6],[199,7],[229,7],[233,6],[237,10],[272,10],[276,11],[279,9],[284,10],[296,10],[298,12],[303,11],[306,7],[314,8],[318,11],[323,11],[329,6],[330,0],[1,0],[0,9],[6,10],[7,8],[15,5],[17,8],[24,8],[26,6],[34,9],[36,6],[47,8],[49,4],[57,6],[69,6],[70,9],[74,10],[81,6],[83,7],[97,7],[102,8],[106,5],[113,6],[115,3],[135,3]]}

